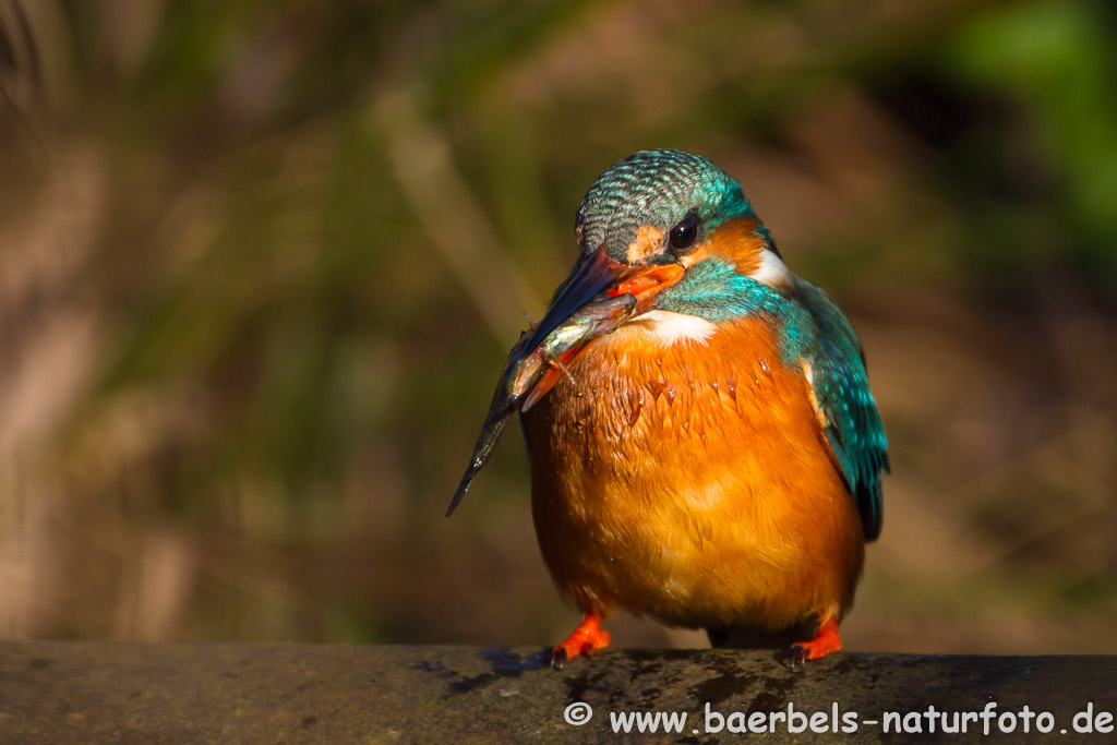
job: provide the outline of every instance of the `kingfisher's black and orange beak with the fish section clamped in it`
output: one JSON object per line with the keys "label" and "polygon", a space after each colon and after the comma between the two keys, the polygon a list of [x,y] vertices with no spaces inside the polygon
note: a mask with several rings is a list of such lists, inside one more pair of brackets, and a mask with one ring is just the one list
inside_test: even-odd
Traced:
{"label": "kingfisher's black and orange beak with the fish section clamped in it", "polygon": [[647,313],[684,271],[677,264],[624,265],[610,258],[604,246],[579,261],[543,319],[513,351],[512,369],[519,374],[510,382],[514,394],[526,395],[522,410],[558,382],[564,365],[586,344]]}

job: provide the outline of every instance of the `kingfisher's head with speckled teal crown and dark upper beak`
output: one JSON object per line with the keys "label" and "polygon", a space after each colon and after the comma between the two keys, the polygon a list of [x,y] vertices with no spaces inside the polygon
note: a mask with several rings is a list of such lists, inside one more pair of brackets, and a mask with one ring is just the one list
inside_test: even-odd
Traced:
{"label": "kingfisher's head with speckled teal crown and dark upper beak", "polygon": [[641,151],[609,166],[577,209],[579,258],[523,345],[535,348],[603,293],[652,311],[717,323],[746,312],[744,283],[786,287],[790,275],[741,185],[712,161]]}

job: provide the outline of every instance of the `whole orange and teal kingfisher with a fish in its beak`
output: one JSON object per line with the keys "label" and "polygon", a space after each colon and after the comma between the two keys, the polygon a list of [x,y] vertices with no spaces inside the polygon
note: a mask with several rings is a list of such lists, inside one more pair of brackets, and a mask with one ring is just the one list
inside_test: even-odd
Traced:
{"label": "whole orange and teal kingfisher with a fish in its beak", "polygon": [[447,516],[518,412],[543,560],[583,613],[554,667],[608,647],[620,611],[715,647],[794,641],[792,667],[838,651],[889,471],[849,319],[706,157],[614,163],[575,236]]}

